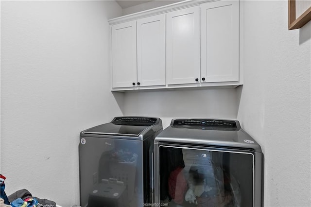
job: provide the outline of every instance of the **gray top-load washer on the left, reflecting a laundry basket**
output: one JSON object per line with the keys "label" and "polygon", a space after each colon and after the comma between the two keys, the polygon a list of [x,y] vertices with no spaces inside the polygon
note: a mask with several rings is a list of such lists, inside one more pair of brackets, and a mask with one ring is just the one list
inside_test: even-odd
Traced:
{"label": "gray top-load washer on the left, reflecting a laundry basket", "polygon": [[152,153],[163,130],[154,117],[115,117],[80,133],[80,206],[151,203]]}

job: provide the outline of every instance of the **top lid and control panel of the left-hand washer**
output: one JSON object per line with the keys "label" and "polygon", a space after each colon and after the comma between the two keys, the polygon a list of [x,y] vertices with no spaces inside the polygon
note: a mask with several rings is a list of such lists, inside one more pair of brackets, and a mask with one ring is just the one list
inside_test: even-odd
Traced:
{"label": "top lid and control panel of the left-hand washer", "polygon": [[110,123],[92,127],[83,134],[138,137],[159,122],[152,117],[115,117]]}

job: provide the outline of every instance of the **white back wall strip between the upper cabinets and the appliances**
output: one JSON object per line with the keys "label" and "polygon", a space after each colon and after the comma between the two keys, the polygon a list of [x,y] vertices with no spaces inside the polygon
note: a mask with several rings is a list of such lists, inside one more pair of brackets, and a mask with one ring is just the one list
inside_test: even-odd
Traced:
{"label": "white back wall strip between the upper cabinets and the appliances", "polygon": [[236,119],[237,99],[234,88],[125,93],[124,115],[159,117],[163,128],[173,118]]}

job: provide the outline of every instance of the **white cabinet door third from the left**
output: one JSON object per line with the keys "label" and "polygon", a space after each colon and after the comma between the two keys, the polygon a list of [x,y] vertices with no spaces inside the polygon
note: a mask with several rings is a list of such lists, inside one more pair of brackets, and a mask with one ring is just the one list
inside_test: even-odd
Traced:
{"label": "white cabinet door third from the left", "polygon": [[200,7],[169,12],[167,23],[168,84],[191,84],[200,79]]}

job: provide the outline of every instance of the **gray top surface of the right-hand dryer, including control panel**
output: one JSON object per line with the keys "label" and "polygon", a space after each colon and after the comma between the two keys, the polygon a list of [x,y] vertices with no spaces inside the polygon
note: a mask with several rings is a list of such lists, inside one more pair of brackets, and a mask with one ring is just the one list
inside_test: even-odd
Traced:
{"label": "gray top surface of the right-hand dryer, including control panel", "polygon": [[259,144],[241,129],[239,121],[217,119],[173,119],[155,143],[196,144],[261,152]]}

